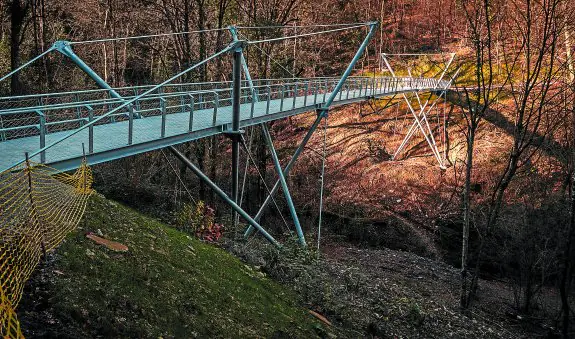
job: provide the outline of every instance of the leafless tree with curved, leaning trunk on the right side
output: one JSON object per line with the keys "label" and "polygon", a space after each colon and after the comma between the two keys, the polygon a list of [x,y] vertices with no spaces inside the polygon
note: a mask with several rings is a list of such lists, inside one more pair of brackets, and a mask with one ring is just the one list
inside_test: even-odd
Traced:
{"label": "leafless tree with curved, leaning trunk on the right side", "polygon": [[476,251],[471,295],[476,291],[483,250],[497,224],[509,185],[518,171],[538,154],[543,143],[535,141],[548,137],[557,127],[557,117],[548,113],[559,95],[553,84],[560,70],[556,54],[563,26],[558,13],[561,3],[562,0],[507,3],[510,17],[504,29],[511,34],[507,42],[513,50],[504,54],[504,74],[512,97],[513,144],[490,196],[484,231]]}

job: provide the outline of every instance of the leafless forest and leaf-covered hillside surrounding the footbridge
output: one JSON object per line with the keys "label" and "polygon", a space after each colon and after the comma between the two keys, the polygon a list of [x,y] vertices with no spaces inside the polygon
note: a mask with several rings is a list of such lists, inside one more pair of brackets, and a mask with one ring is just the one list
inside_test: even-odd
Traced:
{"label": "leafless forest and leaf-covered hillside surrounding the footbridge", "polygon": [[[122,89],[159,84],[209,58],[230,45],[233,26],[240,40],[264,41],[243,51],[253,79],[295,81],[341,77],[371,26],[337,29],[378,22],[352,76],[441,75],[450,84],[429,97],[394,94],[330,109],[287,176],[308,248],[297,244],[290,206],[281,194],[258,219],[285,243],[277,250],[259,236],[245,240],[245,218],[236,223],[225,201],[170,152],[94,164],[97,197],[94,205],[88,202],[85,221],[78,224],[81,230],[72,232],[62,248],[44,253],[15,308],[25,336],[575,337],[575,2],[3,0],[0,13],[0,74],[42,55],[0,81],[0,131],[16,123],[2,115],[13,108],[15,98],[98,88],[74,62],[54,51],[58,41],[73,42],[74,52],[89,67],[111,87]],[[314,33],[329,29],[334,32]],[[280,39],[290,36],[296,38]],[[233,58],[224,54],[183,74],[177,83],[232,80]],[[433,102],[425,118],[430,136],[415,128],[412,106],[424,112],[421,98]],[[268,124],[284,165],[315,118],[316,112],[308,112]],[[405,138],[410,126],[415,132]],[[277,178],[275,151],[267,147],[265,133],[267,128],[254,125],[242,135],[239,205],[252,216]],[[176,148],[228,192],[231,139],[218,134]],[[428,147],[432,144],[437,148]],[[0,213],[5,206],[0,199]],[[134,236],[140,232],[132,231],[138,223],[154,239],[164,239],[154,228],[180,239],[170,233],[175,229],[200,240],[190,248],[207,243],[238,257],[242,264],[221,259],[220,252],[202,260],[214,266],[222,260],[226,270],[249,270],[253,279],[270,279],[254,292],[258,302],[282,307],[282,316],[290,314],[292,322],[270,315],[268,323],[263,316],[245,328],[254,320],[226,329],[226,317],[236,321],[238,314],[259,311],[231,314],[218,299],[227,293],[217,290],[218,278],[209,280],[210,274],[221,278],[229,272],[207,266],[201,271],[198,256],[205,254],[180,246],[180,240],[174,240],[178,245],[162,240],[160,254],[143,255],[141,260],[149,262],[142,264],[135,254],[122,259],[86,249],[85,237],[78,235],[103,230],[101,236],[128,244],[130,251],[132,246],[156,251],[160,245],[148,243],[147,234]],[[5,226],[0,225],[9,228]],[[210,246],[205,253],[212,251]],[[2,254],[2,245],[0,250]],[[203,299],[174,296],[184,299],[167,308],[182,324],[190,321],[189,328],[157,315],[162,310],[145,294],[132,300],[124,296],[128,292],[76,289],[108,283],[110,291],[131,289],[130,278],[122,273],[126,268],[120,266],[124,259],[149,267],[145,275],[156,267],[154,279],[174,279],[183,286],[184,279],[178,278],[183,271],[175,269],[180,254],[172,258],[172,250],[189,250],[182,262],[196,265],[194,274],[206,279],[192,285],[206,289],[199,293]],[[187,255],[195,259],[188,262]],[[161,268],[158,258],[175,260],[173,267]],[[83,260],[100,270],[82,268]],[[221,278],[222,286],[226,279]],[[161,286],[174,294],[185,289]],[[276,288],[287,291],[276,293],[282,295],[277,302],[266,294]],[[67,292],[54,292],[58,290]],[[79,299],[66,299],[66,294],[92,292],[87,300],[102,293],[112,295],[113,302],[92,310]],[[250,297],[235,298],[242,297],[252,307]],[[54,301],[58,298],[62,301]],[[219,307],[217,315],[190,311],[211,303]],[[293,319],[309,316],[301,315],[301,308],[321,325],[296,326]],[[194,317],[201,321],[189,320]]]}

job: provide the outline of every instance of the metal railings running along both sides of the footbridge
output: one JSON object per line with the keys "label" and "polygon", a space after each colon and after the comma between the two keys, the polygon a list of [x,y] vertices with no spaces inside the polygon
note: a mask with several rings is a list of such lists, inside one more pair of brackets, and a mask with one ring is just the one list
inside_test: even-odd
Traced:
{"label": "metal railings running along both sides of the footbridge", "polygon": [[[254,115],[313,109],[325,102],[339,78],[259,79],[253,89],[242,83],[240,104],[250,105]],[[188,131],[195,125],[217,126],[218,111],[232,105],[231,82],[170,84],[146,95],[124,109],[109,115],[97,125],[128,121],[127,145],[134,140],[134,120],[161,116],[159,137],[166,136],[168,116],[187,114]],[[335,101],[384,95],[401,91],[440,90],[445,81],[409,77],[350,77]],[[0,98],[0,142],[23,137],[39,137],[40,148],[46,135],[82,127],[98,116],[141,94],[151,86],[116,89],[124,99],[111,98],[106,90],[51,93]],[[257,98],[257,100],[254,100]],[[256,112],[256,103],[264,103]],[[265,112],[261,112],[265,110]],[[199,124],[198,124],[199,123]],[[221,123],[220,123],[221,124]],[[94,125],[88,127],[88,152],[94,152]],[[45,154],[41,154],[44,162]]]}

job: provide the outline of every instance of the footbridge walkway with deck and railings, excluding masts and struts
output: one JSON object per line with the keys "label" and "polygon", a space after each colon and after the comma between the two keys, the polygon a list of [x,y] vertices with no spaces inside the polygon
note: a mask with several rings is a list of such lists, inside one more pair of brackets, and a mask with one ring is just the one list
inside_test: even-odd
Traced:
{"label": "footbridge walkway with deck and railings, excluding masts and struts", "polygon": [[[238,90],[240,128],[314,111],[330,98],[333,108],[407,92],[437,91],[447,85],[437,79],[409,77],[349,77],[338,88],[339,82],[335,77],[257,79],[251,84],[244,80]],[[151,86],[115,88],[121,99],[106,98],[108,90],[0,98],[0,168],[8,170],[26,152],[39,149],[31,160],[67,171],[77,168],[84,156],[89,164],[97,164],[233,134],[232,85],[169,84],[145,96],[139,94]],[[50,144],[54,145],[44,149]]]}

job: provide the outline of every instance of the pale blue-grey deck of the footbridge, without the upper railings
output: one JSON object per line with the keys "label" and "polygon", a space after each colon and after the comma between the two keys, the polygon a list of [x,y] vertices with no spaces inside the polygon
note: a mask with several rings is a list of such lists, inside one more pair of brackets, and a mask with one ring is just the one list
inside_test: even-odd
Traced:
{"label": "pale blue-grey deck of the footbridge, without the upper railings", "polygon": [[[345,89],[338,94],[333,105],[343,105],[351,102],[366,100],[368,97],[383,97],[412,91],[429,91],[435,87],[410,88],[409,86],[395,86],[388,88]],[[324,95],[325,93],[325,95]],[[241,126],[251,126],[262,122],[278,120],[287,116],[301,114],[314,110],[331,92],[287,97],[284,99],[270,99],[269,101],[246,102],[241,104]],[[316,101],[316,104],[314,104]],[[283,102],[283,103],[282,103]],[[187,109],[186,109],[187,108]],[[231,105],[205,109],[195,109],[190,113],[189,106],[183,105],[178,112],[165,114],[165,135],[162,137],[162,115],[147,116],[133,120],[133,141],[128,144],[129,122],[108,122],[93,126],[93,152],[87,158],[90,164],[110,161],[129,155],[175,145],[186,141],[196,140],[210,135],[225,133],[231,128]],[[190,129],[190,120],[191,129]],[[215,123],[214,123],[215,121]],[[47,133],[45,143],[50,143],[68,135],[70,130]],[[60,170],[76,168],[83,155],[83,145],[89,153],[89,129],[86,128],[67,140],[53,146],[45,152],[45,163]],[[40,149],[40,136],[25,136],[0,142],[0,171],[10,168],[20,161],[25,152],[34,152]],[[32,158],[41,162],[40,155]]]}

